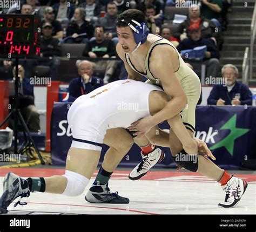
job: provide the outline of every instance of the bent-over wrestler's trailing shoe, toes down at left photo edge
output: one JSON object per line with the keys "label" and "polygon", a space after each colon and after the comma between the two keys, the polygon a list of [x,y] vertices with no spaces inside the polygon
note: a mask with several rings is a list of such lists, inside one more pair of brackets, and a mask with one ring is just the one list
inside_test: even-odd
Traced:
{"label": "bent-over wrestler's trailing shoe, toes down at left photo edge", "polygon": [[4,178],[4,193],[0,198],[0,213],[6,214],[7,208],[17,197],[30,195],[29,184],[14,173],[7,173]]}

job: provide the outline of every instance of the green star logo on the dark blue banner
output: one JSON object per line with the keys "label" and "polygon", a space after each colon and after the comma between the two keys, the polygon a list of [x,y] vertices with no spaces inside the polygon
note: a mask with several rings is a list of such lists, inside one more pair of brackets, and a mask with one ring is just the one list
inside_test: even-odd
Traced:
{"label": "green star logo on the dark blue banner", "polygon": [[242,135],[246,134],[250,129],[246,128],[238,128],[236,127],[237,124],[237,114],[234,114],[233,117],[228,120],[220,129],[228,129],[230,133],[227,135],[226,138],[217,142],[217,144],[211,146],[209,149],[217,149],[220,147],[225,147],[227,151],[233,156],[234,152],[234,141],[235,139],[241,137]]}

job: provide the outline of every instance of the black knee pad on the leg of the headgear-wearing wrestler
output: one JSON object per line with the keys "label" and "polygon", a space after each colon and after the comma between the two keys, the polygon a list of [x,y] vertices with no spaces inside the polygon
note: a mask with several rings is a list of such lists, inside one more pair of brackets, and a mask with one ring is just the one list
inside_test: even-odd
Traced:
{"label": "black knee pad on the leg of the headgear-wearing wrestler", "polygon": [[198,157],[197,155],[189,155],[184,150],[182,150],[176,156],[172,156],[172,160],[177,163],[177,165],[190,170],[191,172],[197,172],[198,169]]}

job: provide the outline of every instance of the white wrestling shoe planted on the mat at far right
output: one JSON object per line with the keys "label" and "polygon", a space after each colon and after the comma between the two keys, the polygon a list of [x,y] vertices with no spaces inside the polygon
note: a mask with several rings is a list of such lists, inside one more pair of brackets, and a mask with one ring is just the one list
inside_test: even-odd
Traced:
{"label": "white wrestling shoe planted on the mat at far right", "polygon": [[226,185],[221,186],[226,192],[225,201],[219,203],[219,207],[230,208],[234,207],[240,201],[242,195],[245,193],[248,184],[246,181],[232,176],[230,180],[227,181]]}

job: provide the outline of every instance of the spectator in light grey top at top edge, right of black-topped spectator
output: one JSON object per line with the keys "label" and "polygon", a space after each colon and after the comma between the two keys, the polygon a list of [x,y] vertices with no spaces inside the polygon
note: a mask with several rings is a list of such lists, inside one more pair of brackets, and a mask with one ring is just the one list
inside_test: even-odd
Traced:
{"label": "spectator in light grey top at top edge, right of black-topped spectator", "polygon": [[104,10],[104,7],[99,3],[95,3],[95,0],[86,0],[86,2],[79,5],[86,11],[86,19],[90,20],[92,24],[97,23],[100,11]]}

